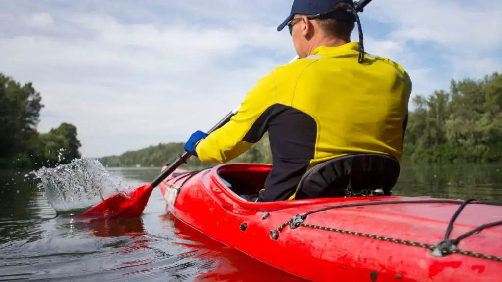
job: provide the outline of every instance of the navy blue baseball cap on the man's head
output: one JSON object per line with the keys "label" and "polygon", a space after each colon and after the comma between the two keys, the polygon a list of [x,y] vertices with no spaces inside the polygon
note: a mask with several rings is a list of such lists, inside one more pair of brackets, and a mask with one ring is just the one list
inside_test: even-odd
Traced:
{"label": "navy blue baseball cap on the man's head", "polygon": [[[291,7],[291,13],[286,20],[277,28],[277,31],[282,31],[295,14],[302,15],[317,15],[333,10],[333,7],[338,3],[347,3],[354,7],[352,0],[294,0]],[[345,11],[331,13],[326,15],[327,18],[344,19],[355,22],[355,17]]]}

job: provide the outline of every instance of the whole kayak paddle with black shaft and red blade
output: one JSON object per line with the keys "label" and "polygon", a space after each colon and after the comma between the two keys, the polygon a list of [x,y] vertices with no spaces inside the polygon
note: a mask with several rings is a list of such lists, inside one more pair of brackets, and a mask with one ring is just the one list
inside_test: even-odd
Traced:
{"label": "whole kayak paddle with black shaft and red blade", "polygon": [[[359,2],[355,2],[355,10],[357,12],[362,12],[363,8],[369,2],[371,2],[371,0],[361,0]],[[290,63],[296,59],[298,59],[298,56],[295,56],[295,58],[293,58]],[[223,119],[221,119],[206,133],[210,134],[214,130],[227,123],[230,118],[237,113],[237,110],[239,108],[240,105],[233,111],[229,112]],[[171,163],[151,183],[140,186],[129,194],[116,194],[107,199],[104,199],[101,203],[98,203],[97,205],[88,209],[79,217],[89,216],[93,217],[93,221],[95,221],[108,218],[133,218],[140,216],[148,203],[148,199],[150,198],[153,189],[157,187],[157,185],[159,185],[162,181],[164,181],[166,177],[176,171],[176,169],[178,169],[182,164],[186,163],[186,161],[190,157],[191,155],[189,153],[184,152],[182,155],[179,155],[176,161]]]}

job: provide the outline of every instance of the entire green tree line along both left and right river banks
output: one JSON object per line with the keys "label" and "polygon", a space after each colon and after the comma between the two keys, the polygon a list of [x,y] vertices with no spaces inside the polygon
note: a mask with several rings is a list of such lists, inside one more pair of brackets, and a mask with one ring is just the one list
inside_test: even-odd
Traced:
{"label": "entire green tree line along both left and right river banks", "polygon": [[[502,75],[450,83],[450,89],[416,95],[405,134],[406,163],[488,163],[502,161]],[[21,84],[0,73],[0,168],[38,168],[81,158],[77,128],[61,123],[49,132],[38,132],[40,93],[31,82]],[[112,167],[158,167],[183,152],[184,143],[150,146],[99,161]],[[272,162],[267,134],[232,161]],[[190,167],[208,166],[197,158]]]}

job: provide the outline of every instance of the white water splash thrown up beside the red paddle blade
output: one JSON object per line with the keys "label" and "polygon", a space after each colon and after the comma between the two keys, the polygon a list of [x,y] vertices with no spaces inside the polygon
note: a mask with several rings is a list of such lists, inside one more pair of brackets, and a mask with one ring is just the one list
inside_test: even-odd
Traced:
{"label": "white water splash thrown up beside the red paddle blade", "polygon": [[91,207],[117,193],[133,188],[112,178],[98,160],[74,159],[55,168],[32,172],[48,203],[59,213]]}

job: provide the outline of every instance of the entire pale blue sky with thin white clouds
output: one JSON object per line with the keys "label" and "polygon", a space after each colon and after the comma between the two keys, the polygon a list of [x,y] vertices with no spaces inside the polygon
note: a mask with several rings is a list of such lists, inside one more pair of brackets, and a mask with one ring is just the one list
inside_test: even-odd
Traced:
{"label": "entire pale blue sky with thin white clouds", "polygon": [[[41,93],[41,132],[77,126],[83,157],[185,142],[296,55],[277,32],[291,5],[0,0],[0,72]],[[412,96],[428,96],[502,71],[500,15],[497,0],[374,0],[360,19],[365,51],[400,63]]]}

